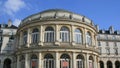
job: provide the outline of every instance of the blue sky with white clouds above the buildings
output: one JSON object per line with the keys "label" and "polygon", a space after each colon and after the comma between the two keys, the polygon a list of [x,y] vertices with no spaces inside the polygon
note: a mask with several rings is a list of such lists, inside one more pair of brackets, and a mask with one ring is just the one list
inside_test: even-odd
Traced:
{"label": "blue sky with white clouds above the buildings", "polygon": [[18,25],[29,15],[55,8],[84,15],[100,29],[120,30],[120,0],[0,0],[0,23],[11,19]]}

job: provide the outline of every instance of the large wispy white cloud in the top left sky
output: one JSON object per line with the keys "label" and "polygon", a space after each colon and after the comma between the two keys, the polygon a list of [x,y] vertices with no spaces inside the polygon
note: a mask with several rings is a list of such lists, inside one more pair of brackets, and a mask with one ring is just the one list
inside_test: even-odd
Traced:
{"label": "large wispy white cloud in the top left sky", "polygon": [[13,15],[15,12],[19,11],[25,6],[26,4],[22,0],[7,0],[4,4],[4,12],[9,15]]}

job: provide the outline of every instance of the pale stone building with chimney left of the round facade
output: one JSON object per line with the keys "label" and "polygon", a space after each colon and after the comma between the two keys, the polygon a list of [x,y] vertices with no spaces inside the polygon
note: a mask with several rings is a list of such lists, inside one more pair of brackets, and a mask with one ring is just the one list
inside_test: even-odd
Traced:
{"label": "pale stone building with chimney left of the round facade", "polygon": [[0,68],[13,68],[10,65],[14,62],[14,38],[17,27],[12,25],[9,20],[8,24],[0,24]]}

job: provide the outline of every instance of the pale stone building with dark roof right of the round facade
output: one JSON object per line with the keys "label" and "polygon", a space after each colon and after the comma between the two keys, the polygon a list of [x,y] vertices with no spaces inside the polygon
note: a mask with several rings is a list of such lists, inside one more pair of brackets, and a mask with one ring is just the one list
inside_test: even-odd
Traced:
{"label": "pale stone building with dark roof right of the round facade", "polygon": [[98,49],[101,68],[120,68],[120,31],[108,30],[98,33]]}

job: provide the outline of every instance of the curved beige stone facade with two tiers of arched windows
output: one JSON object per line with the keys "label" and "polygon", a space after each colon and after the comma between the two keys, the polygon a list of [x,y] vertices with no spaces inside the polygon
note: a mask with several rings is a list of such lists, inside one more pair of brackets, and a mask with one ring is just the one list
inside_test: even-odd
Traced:
{"label": "curved beige stone facade with two tiers of arched windows", "polygon": [[98,68],[97,29],[59,9],[25,18],[17,31],[17,68]]}

